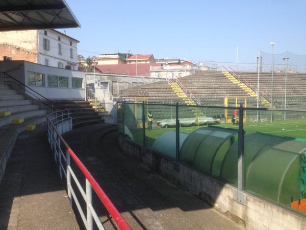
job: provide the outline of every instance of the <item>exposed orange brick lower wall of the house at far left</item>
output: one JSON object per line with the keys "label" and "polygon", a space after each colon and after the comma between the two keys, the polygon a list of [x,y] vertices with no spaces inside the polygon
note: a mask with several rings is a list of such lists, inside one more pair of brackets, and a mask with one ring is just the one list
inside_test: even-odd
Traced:
{"label": "exposed orange brick lower wall of the house at far left", "polygon": [[20,48],[16,45],[9,43],[0,43],[0,60],[3,61],[3,57],[11,57],[14,61],[25,60],[37,63],[37,54],[34,51]]}

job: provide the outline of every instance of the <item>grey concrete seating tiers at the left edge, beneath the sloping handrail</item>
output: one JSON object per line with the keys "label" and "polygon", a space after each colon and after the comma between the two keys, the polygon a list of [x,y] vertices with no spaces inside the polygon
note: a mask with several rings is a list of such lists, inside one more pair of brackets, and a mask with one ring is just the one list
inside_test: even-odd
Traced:
{"label": "grey concrete seating tiers at the left edge, beneath the sloping handrail", "polygon": [[13,119],[23,119],[23,122],[27,122],[45,116],[46,112],[31,100],[24,99],[23,95],[19,95],[9,85],[0,84],[0,127],[11,124]]}

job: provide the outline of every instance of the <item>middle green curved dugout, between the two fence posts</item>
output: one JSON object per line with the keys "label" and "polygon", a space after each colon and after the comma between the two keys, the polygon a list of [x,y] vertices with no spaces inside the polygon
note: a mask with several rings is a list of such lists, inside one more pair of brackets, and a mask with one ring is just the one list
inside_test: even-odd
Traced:
{"label": "middle green curved dugout, between the two fence posts", "polygon": [[234,143],[237,129],[203,127],[189,134],[180,151],[180,162],[213,176],[220,176],[223,158]]}

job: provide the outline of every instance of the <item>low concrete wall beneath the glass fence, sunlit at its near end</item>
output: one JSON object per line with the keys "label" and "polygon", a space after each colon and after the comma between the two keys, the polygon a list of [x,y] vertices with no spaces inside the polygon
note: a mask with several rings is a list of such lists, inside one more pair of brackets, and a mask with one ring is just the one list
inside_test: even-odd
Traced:
{"label": "low concrete wall beneath the glass fence, sunlit at its near end", "polygon": [[125,155],[137,159],[176,185],[207,201],[246,229],[306,229],[306,217],[302,213],[284,209],[246,192],[243,192],[246,202],[242,204],[235,199],[235,187],[154,152],[143,150],[134,143],[124,141],[120,133],[118,140]]}

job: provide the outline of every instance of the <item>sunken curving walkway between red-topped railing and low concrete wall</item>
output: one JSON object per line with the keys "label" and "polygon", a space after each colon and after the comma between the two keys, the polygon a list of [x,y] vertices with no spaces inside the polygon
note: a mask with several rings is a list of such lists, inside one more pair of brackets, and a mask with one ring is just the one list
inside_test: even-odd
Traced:
{"label": "sunken curving walkway between red-topped railing and low concrete wall", "polygon": [[[65,140],[133,229],[243,229],[118,149],[116,127],[75,129]],[[98,202],[96,200],[95,202]],[[99,213],[106,229],[115,229]]]}

